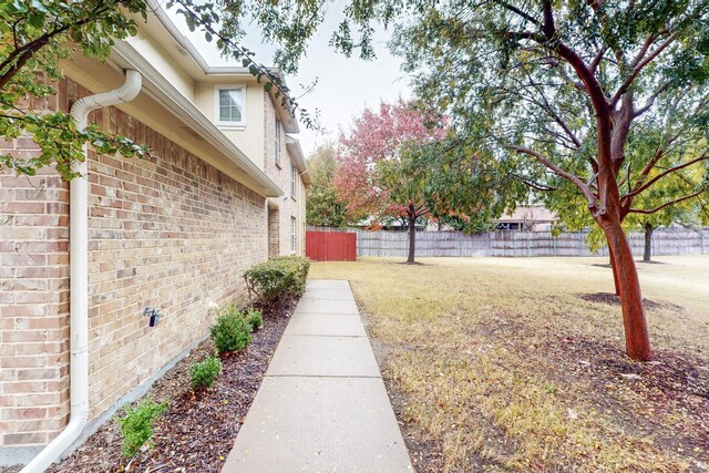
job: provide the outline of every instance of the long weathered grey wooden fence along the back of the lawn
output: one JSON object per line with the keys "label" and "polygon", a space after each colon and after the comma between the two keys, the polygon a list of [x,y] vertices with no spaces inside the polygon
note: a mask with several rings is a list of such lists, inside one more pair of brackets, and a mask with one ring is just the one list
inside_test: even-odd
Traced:
{"label": "long weathered grey wooden fence along the back of the lawn", "polygon": [[[348,230],[357,236],[358,256],[401,256],[409,250],[405,232]],[[308,233],[309,234],[309,233]],[[551,232],[489,232],[465,235],[460,232],[418,232],[417,256],[607,256],[608,248],[592,253],[588,232],[552,236]],[[633,254],[643,256],[645,236],[629,235]],[[661,228],[653,233],[653,255],[709,255],[709,229]]]}

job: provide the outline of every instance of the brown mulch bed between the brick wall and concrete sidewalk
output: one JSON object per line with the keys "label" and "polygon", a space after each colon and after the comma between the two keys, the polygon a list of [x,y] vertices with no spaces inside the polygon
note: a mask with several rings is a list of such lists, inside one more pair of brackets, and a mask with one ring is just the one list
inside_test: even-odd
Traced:
{"label": "brown mulch bed between the brick wall and concrete sidewalk", "polygon": [[[242,352],[222,357],[223,371],[214,385],[195,393],[189,367],[214,352],[210,339],[202,342],[163,378],[148,395],[169,405],[155,425],[154,448],[130,464],[131,472],[218,472],[261,384],[276,346],[295,310],[297,299],[267,311],[264,327]],[[122,411],[120,411],[122,413]],[[121,452],[114,421],[103,424],[73,454],[48,472],[123,472],[130,462]]]}

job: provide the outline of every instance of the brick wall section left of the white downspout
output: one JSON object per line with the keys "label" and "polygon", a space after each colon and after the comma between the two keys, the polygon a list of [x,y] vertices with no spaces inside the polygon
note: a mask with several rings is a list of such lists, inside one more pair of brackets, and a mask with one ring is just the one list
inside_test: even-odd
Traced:
{"label": "brick wall section left of the white downspout", "polygon": [[[34,153],[31,140],[2,152]],[[68,186],[0,175],[0,446],[44,444],[69,408]]]}

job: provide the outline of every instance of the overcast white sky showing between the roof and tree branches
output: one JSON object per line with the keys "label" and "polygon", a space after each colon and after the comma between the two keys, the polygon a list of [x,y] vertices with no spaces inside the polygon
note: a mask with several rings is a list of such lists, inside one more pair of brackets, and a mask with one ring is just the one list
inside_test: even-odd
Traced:
{"label": "overcast white sky showing between the roof and tree branches", "polygon": [[[400,70],[401,61],[392,56],[387,49],[390,32],[377,32],[376,60],[362,61],[354,54],[347,59],[328,45],[331,33],[340,21],[341,12],[336,11],[337,4],[326,4],[330,11],[327,12],[317,35],[312,38],[307,56],[300,63],[298,75],[286,78],[294,96],[302,93],[301,85],[308,86],[318,80],[315,90],[299,99],[298,103],[309,112],[316,109],[320,111],[320,124],[327,133],[316,133],[301,124],[300,134],[295,137],[300,141],[306,156],[315,151],[318,144],[328,138],[336,140],[340,127],[347,130],[352,117],[366,106],[377,106],[381,100],[392,101],[399,96],[407,99],[411,95],[408,79]],[[216,48],[204,40],[203,33],[189,33],[182,17],[176,17],[174,22],[198,47],[209,64],[228,64],[219,56]],[[249,34],[243,44],[257,53],[257,62],[271,64],[276,48],[261,44],[258,30],[255,28],[246,30]]]}

